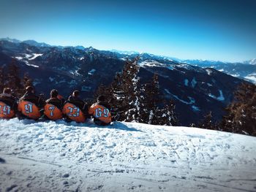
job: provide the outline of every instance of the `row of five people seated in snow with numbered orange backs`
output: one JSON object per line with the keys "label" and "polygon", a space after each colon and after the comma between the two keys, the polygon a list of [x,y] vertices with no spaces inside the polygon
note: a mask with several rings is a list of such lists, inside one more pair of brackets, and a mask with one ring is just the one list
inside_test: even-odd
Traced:
{"label": "row of five people seated in snow with numbered orange backs", "polygon": [[0,118],[39,118],[84,123],[86,118],[94,118],[94,123],[105,126],[113,120],[110,105],[105,101],[105,96],[99,96],[97,102],[90,107],[79,98],[79,91],[74,91],[65,101],[56,89],[50,91],[50,98],[46,101],[34,93],[34,88],[28,86],[26,93],[17,101],[12,96],[10,88],[4,88],[0,94]]}

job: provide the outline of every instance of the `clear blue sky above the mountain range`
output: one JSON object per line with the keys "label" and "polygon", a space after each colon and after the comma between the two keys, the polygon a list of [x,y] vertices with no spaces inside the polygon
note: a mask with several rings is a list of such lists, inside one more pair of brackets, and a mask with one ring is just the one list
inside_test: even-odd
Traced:
{"label": "clear blue sky above the mountain range", "polygon": [[256,58],[256,1],[0,1],[0,37],[183,59]]}

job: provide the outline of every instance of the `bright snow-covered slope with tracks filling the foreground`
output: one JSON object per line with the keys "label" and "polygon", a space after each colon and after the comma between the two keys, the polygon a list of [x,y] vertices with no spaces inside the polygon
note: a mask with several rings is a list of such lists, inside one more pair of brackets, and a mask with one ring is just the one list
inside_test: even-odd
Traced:
{"label": "bright snow-covered slope with tracks filling the foreground", "polygon": [[199,128],[0,120],[0,191],[256,191],[255,146]]}

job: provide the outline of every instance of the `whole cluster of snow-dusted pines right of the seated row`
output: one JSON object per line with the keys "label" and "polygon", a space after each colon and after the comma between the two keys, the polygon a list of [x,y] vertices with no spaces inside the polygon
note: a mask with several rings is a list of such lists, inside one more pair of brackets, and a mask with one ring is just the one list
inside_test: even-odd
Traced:
{"label": "whole cluster of snow-dusted pines right of the seated row", "polygon": [[153,125],[178,125],[173,101],[162,106],[157,74],[151,82],[140,85],[138,58],[127,61],[121,73],[116,74],[109,87],[100,85],[95,96],[107,96],[112,113],[118,113],[118,120],[135,121]]}

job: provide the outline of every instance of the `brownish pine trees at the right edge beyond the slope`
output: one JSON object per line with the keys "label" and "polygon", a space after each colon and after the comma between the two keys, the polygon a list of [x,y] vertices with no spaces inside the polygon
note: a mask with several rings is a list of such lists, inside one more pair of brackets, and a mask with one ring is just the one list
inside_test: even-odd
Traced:
{"label": "brownish pine trees at the right edge beyond the slope", "polygon": [[226,111],[221,123],[223,131],[256,136],[256,85],[241,84]]}

